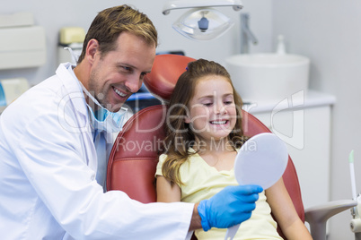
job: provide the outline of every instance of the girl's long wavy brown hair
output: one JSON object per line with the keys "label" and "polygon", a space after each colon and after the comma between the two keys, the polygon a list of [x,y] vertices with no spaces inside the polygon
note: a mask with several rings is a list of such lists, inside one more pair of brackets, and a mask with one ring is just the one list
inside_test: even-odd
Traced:
{"label": "girl's long wavy brown hair", "polygon": [[187,71],[181,74],[174,87],[165,124],[164,153],[167,154],[167,158],[163,162],[162,174],[171,184],[182,184],[180,167],[189,156],[195,154],[190,153],[188,150],[193,146],[196,139],[201,139],[191,130],[189,124],[185,123],[185,119],[189,116],[189,101],[195,94],[198,81],[207,76],[224,77],[232,85],[237,119],[233,131],[228,137],[233,149],[241,148],[244,141],[248,139],[243,136],[242,99],[234,90],[231,76],[225,67],[205,59],[190,62]]}

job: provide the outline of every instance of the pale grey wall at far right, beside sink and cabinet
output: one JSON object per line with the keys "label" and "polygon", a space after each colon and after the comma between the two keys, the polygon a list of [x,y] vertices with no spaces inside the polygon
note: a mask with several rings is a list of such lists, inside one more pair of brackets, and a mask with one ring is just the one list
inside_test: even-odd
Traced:
{"label": "pale grey wall at far right, beside sink and cabinet", "polygon": [[[361,2],[273,2],[273,34],[283,33],[288,51],[311,58],[310,86],[333,94],[330,200],[351,199],[348,154],[355,150],[361,191]],[[349,210],[330,219],[329,239],[354,239]]]}

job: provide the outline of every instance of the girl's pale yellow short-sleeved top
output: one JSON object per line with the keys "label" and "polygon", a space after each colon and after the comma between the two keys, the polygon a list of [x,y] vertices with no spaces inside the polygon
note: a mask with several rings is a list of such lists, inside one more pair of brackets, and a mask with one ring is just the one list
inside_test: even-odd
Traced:
{"label": "girl's pale yellow short-sleeved top", "polygon": [[[189,151],[193,151],[189,149]],[[162,176],[162,165],[166,155],[161,155],[155,175]],[[191,156],[180,168],[181,201],[198,202],[209,199],[227,185],[237,185],[234,171],[218,171],[211,167],[198,154]],[[277,223],[270,215],[269,203],[264,192],[256,202],[251,219],[242,222],[233,239],[282,239],[277,233]],[[226,229],[213,227],[205,232],[195,231],[198,240],[225,239]]]}

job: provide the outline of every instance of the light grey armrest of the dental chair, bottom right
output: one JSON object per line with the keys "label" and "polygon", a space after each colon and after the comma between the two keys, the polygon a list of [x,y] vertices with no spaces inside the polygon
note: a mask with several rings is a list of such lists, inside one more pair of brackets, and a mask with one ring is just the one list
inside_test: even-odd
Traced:
{"label": "light grey armrest of the dental chair, bottom right", "polygon": [[329,201],[324,204],[304,210],[304,218],[310,224],[311,235],[315,240],[326,239],[326,222],[333,215],[357,206],[357,201],[339,200]]}

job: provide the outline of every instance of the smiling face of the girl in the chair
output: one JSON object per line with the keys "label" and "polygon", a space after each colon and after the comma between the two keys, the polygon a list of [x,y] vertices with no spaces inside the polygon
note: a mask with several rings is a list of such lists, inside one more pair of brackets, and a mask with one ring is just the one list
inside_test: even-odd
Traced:
{"label": "smiling face of the girl in the chair", "polygon": [[205,76],[198,79],[194,92],[185,120],[191,130],[205,141],[228,137],[237,120],[230,81],[223,76]]}

